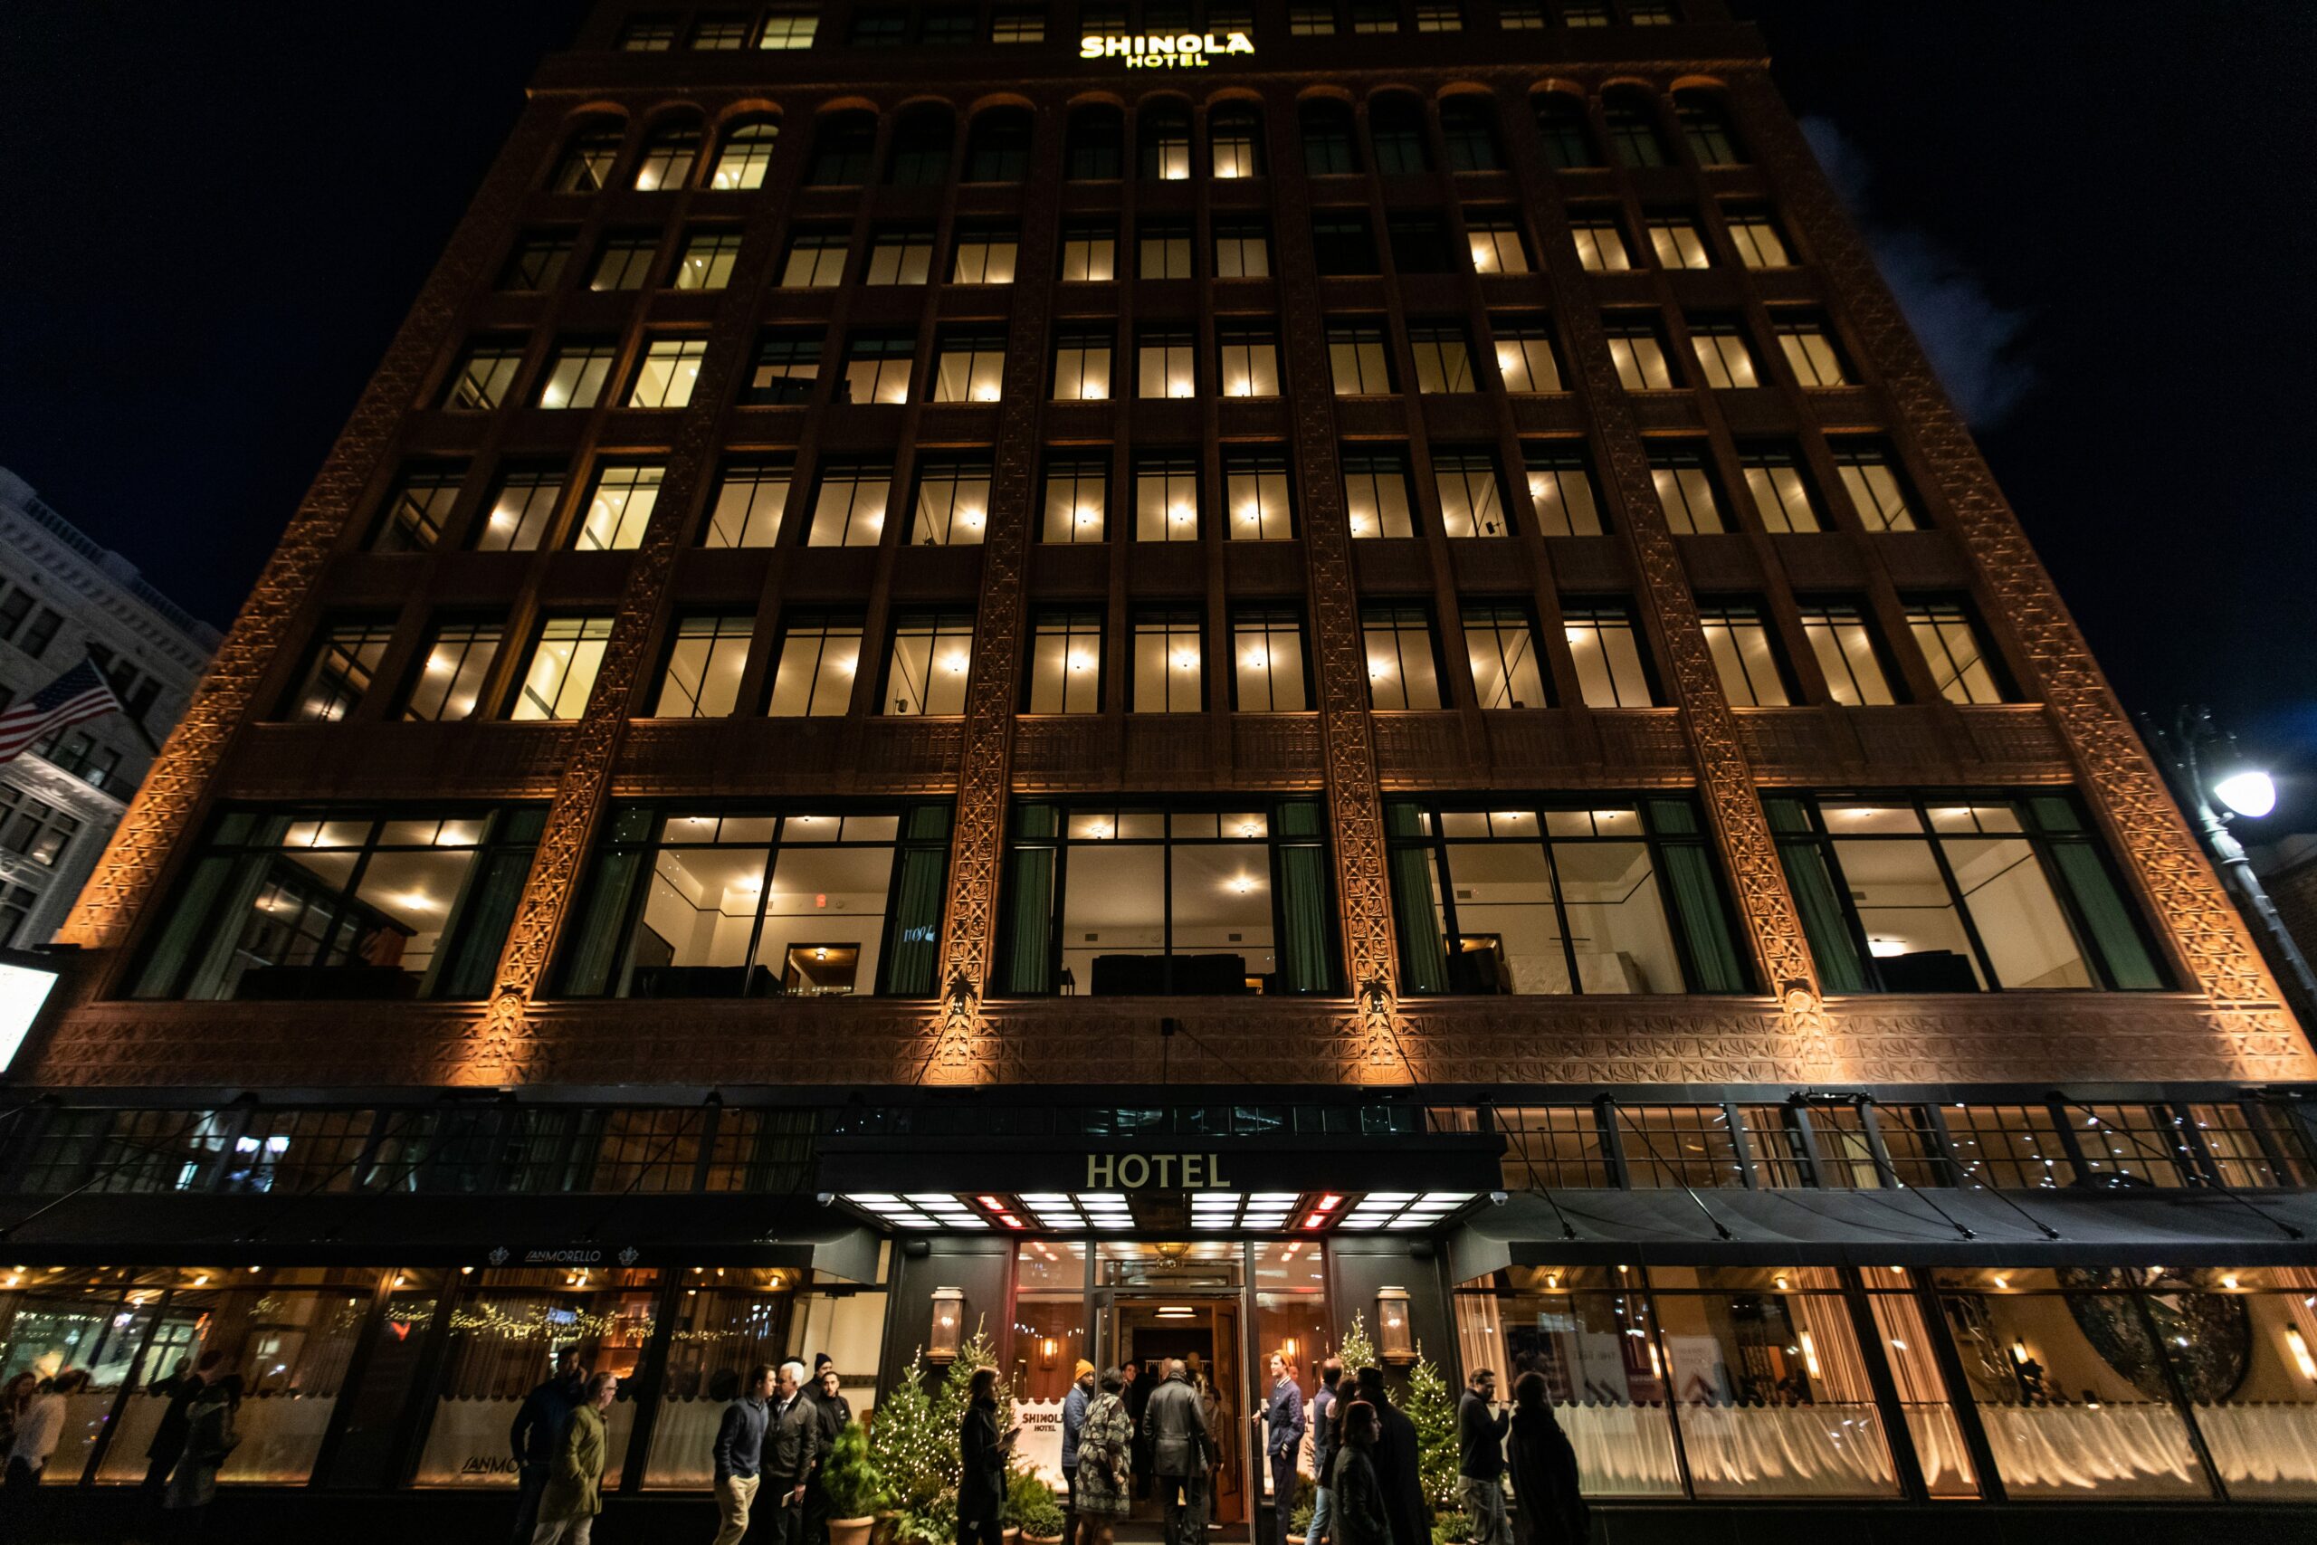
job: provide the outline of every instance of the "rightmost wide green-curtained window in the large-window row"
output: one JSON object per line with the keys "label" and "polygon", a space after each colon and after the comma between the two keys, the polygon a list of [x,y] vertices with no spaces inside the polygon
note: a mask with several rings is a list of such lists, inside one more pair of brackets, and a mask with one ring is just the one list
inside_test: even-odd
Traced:
{"label": "rightmost wide green-curtained window in the large-window row", "polygon": [[1766,801],[1828,991],[2155,989],[2067,795]]}

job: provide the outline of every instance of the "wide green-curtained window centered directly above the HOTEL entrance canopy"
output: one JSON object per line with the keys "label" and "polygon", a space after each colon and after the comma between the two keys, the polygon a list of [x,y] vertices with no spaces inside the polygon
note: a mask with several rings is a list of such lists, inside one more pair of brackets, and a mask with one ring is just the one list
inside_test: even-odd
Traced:
{"label": "wide green-curtained window centered directly above the HOTEL entrance canopy", "polygon": [[1008,994],[1328,994],[1325,811],[1019,804],[999,982]]}

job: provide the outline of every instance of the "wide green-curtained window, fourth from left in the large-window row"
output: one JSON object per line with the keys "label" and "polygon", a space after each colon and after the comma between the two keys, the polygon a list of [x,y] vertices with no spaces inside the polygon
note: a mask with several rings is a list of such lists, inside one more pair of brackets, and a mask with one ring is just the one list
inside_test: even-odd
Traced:
{"label": "wide green-curtained window, fourth from left in the large-window row", "polygon": [[1492,795],[1386,806],[1402,989],[1747,991],[1712,845],[1687,799]]}

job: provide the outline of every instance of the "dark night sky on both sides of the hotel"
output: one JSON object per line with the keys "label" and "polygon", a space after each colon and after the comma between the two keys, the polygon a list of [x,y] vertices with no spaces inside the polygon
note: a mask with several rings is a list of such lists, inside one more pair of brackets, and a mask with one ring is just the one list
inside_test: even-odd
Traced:
{"label": "dark night sky on both sides of the hotel", "polygon": [[[2127,706],[2317,825],[2317,7],[1735,0]],[[0,466],[227,623],[584,0],[0,14]]]}

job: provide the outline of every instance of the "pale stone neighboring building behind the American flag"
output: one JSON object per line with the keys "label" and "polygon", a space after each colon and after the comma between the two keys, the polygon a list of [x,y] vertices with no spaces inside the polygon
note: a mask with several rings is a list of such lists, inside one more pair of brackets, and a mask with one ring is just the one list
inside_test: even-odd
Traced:
{"label": "pale stone neighboring building behind the American flag", "polygon": [[81,656],[127,706],[0,762],[0,947],[56,933],[215,651],[215,628],[0,468],[0,709]]}

